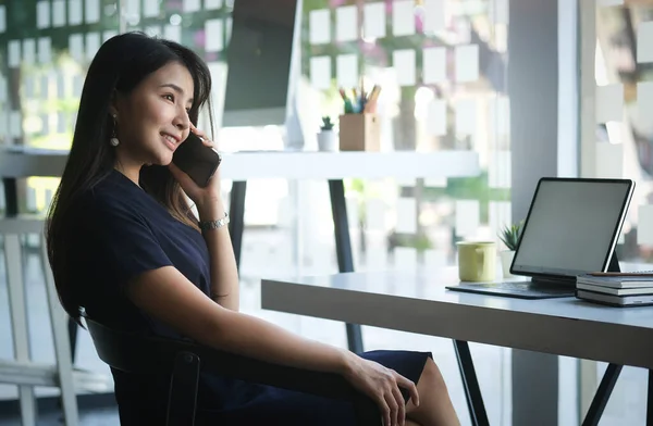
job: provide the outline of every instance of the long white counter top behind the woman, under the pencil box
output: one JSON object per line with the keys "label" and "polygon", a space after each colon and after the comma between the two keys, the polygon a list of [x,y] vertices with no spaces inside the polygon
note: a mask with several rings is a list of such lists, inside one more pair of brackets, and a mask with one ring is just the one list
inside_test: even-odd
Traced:
{"label": "long white counter top behind the woman, under the pencil box", "polygon": [[[477,176],[480,173],[479,155],[475,151],[260,151],[222,155],[221,175],[223,178],[234,180],[346,177],[446,178]],[[66,151],[0,148],[0,176],[61,176],[66,161]]]}

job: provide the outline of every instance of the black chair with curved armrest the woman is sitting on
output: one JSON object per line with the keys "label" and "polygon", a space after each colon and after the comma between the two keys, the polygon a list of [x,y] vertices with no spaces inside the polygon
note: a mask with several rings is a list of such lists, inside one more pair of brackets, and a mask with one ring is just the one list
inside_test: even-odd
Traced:
{"label": "black chair with curved armrest the woman is sitting on", "polygon": [[168,426],[193,426],[199,373],[349,401],[360,426],[381,426],[378,406],[336,374],[318,373],[221,352],[183,340],[146,337],[109,328],[84,315],[100,359],[109,366],[143,374],[169,374]]}

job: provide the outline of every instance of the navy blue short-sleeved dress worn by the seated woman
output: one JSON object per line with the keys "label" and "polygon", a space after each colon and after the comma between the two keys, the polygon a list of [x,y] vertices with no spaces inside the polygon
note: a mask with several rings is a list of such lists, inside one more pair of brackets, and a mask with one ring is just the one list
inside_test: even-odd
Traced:
{"label": "navy blue short-sleeved dress worn by the seated woman", "polygon": [[[119,172],[81,197],[71,235],[73,285],[89,315],[125,330],[182,338],[138,310],[124,285],[146,271],[172,265],[205,295],[210,293],[209,252],[201,234],[182,224]],[[372,351],[378,361],[417,383],[430,353]],[[112,369],[123,425],[163,425],[169,377]],[[347,402],[202,374],[199,425],[354,425]]]}

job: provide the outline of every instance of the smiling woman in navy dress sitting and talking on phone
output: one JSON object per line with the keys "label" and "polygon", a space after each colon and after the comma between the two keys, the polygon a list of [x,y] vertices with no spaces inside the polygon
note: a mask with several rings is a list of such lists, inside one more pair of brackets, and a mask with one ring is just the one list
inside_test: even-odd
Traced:
{"label": "smiling woman in navy dress sitting and talking on phone", "polygon": [[[206,64],[175,42],[131,33],[98,51],[47,229],[66,312],[78,321],[84,308],[112,327],[341,374],[378,402],[386,425],[457,425],[430,354],[356,355],[238,313],[219,172],[200,188],[171,163],[190,131],[211,145],[194,125],[205,103],[211,116],[210,90]],[[112,374],[123,424],[164,424],[165,377]],[[217,376],[201,377],[198,398],[199,424],[354,424],[345,402]]]}

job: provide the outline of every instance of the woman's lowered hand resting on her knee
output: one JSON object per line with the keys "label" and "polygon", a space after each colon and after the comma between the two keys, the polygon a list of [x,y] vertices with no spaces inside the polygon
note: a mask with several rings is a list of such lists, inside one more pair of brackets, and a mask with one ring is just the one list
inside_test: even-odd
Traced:
{"label": "woman's lowered hand resting on her knee", "polygon": [[370,397],[381,408],[385,426],[404,426],[406,403],[399,387],[408,389],[415,405],[419,394],[415,383],[373,361],[352,354],[347,362],[345,378],[358,390]]}

